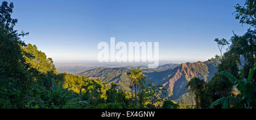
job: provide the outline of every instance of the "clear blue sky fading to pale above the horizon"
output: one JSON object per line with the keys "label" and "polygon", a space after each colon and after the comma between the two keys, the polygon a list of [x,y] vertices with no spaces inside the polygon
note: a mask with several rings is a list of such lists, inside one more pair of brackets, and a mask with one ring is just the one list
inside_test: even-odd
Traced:
{"label": "clear blue sky fading to pale above the horizon", "polygon": [[215,38],[242,35],[234,18],[241,0],[7,0],[16,29],[55,63],[97,60],[97,44],[159,42],[159,59],[205,61],[220,55]]}

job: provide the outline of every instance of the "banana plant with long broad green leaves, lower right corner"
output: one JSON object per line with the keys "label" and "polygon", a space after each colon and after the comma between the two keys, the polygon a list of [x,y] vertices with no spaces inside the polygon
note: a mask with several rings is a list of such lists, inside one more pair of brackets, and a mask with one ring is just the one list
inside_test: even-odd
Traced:
{"label": "banana plant with long broad green leaves, lower right corner", "polygon": [[231,73],[221,71],[219,72],[221,75],[226,76],[229,78],[230,81],[233,82],[234,85],[236,85],[237,89],[240,91],[240,95],[237,97],[222,97],[216,101],[213,102],[210,107],[216,106],[216,105],[222,105],[222,109],[228,109],[229,103],[233,105],[241,105],[242,108],[251,109],[251,101],[252,98],[256,92],[256,88],[254,85],[254,79],[253,75],[256,69],[256,63],[254,64],[254,68],[250,68],[249,76],[248,78],[242,78],[242,80],[238,80],[236,77],[234,77]]}

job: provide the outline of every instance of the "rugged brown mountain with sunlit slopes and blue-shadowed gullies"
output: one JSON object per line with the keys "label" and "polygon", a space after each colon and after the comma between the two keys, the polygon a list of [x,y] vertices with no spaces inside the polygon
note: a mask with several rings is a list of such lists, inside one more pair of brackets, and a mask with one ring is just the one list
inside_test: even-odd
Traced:
{"label": "rugged brown mountain with sunlit slopes and blue-shadowed gullies", "polygon": [[199,77],[209,81],[216,72],[216,67],[203,63],[183,63],[170,71],[146,73],[147,80],[153,80],[162,84],[167,90],[172,100],[176,100],[187,93],[186,85],[193,77]]}

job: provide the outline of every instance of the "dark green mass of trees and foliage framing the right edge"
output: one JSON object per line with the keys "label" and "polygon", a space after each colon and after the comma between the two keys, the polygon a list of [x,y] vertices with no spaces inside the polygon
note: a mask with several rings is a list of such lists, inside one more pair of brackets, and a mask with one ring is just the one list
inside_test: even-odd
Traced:
{"label": "dark green mass of trees and foliage framing the right edge", "polygon": [[[255,84],[255,53],[256,30],[254,0],[246,0],[245,6],[236,5],[236,19],[240,23],[246,23],[249,28],[242,35],[232,36],[227,51],[222,56],[216,55],[212,61],[218,65],[218,72],[208,83],[190,81],[190,91],[195,95],[197,108],[255,108],[256,84]],[[225,39],[215,39],[221,49],[228,45]],[[221,46],[221,47],[220,47]],[[254,67],[254,69],[253,69]],[[204,84],[204,85],[203,85]],[[204,103],[202,106],[201,104]],[[198,104],[198,105],[197,105]]]}

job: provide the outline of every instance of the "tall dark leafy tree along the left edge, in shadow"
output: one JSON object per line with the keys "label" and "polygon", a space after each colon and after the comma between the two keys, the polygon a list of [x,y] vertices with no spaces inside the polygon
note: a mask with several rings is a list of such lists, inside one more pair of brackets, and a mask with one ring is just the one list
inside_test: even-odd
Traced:
{"label": "tall dark leafy tree along the left edge, in shadow", "polygon": [[21,108],[27,102],[25,97],[30,94],[31,82],[38,72],[24,59],[31,56],[21,48],[26,46],[21,37],[28,33],[14,30],[18,20],[11,18],[13,8],[13,3],[6,1],[0,6],[0,101],[5,101],[0,107]]}

